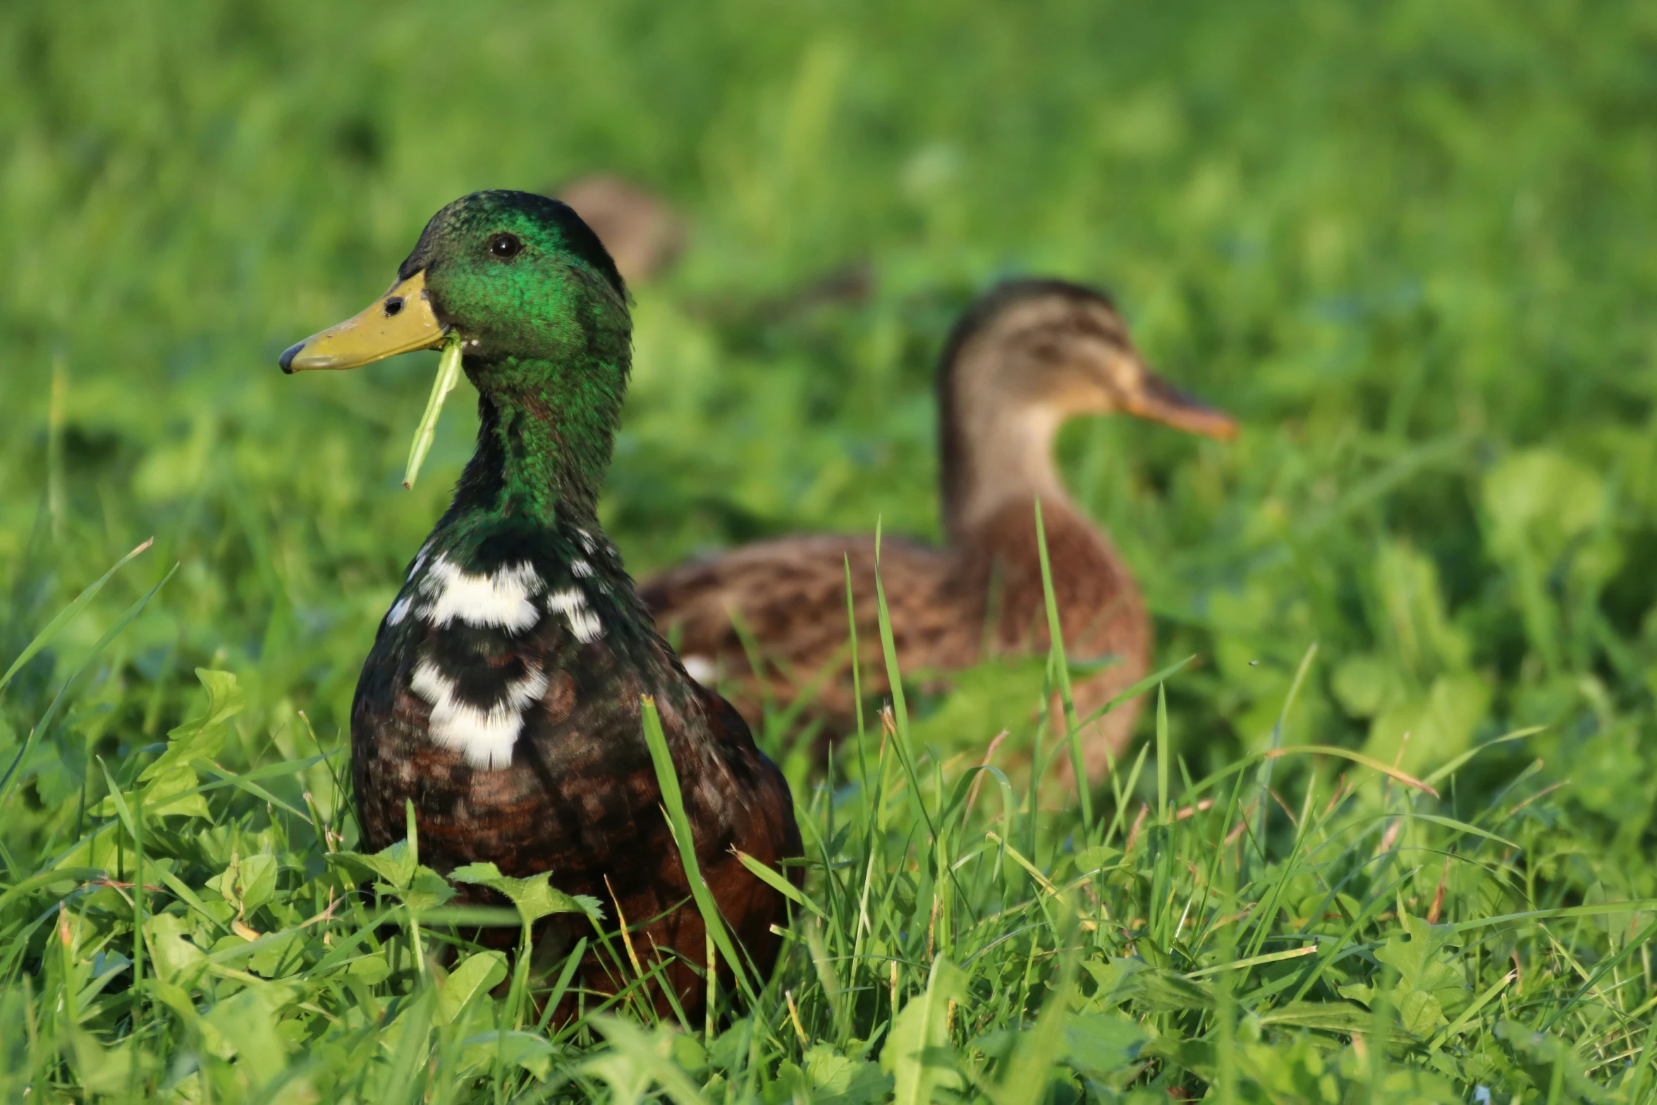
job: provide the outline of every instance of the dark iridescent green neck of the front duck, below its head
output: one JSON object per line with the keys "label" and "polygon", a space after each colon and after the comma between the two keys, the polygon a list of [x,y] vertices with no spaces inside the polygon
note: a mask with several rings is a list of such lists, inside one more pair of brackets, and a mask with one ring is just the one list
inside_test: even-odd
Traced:
{"label": "dark iridescent green neck of the front duck, below its head", "polygon": [[621,408],[620,391],[606,381],[625,379],[625,368],[605,369],[524,358],[469,361],[466,373],[479,389],[477,452],[447,519],[595,528]]}

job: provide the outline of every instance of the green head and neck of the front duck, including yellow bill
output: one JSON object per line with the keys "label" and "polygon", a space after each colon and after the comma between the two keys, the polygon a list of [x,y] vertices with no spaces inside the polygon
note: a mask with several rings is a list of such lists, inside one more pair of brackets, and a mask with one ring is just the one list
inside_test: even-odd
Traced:
{"label": "green head and neck of the front duck, including yellow bill", "polygon": [[479,393],[459,499],[504,515],[590,514],[631,364],[626,285],[585,222],[534,192],[474,192],[426,224],[391,288],[282,355],[360,368],[457,338]]}

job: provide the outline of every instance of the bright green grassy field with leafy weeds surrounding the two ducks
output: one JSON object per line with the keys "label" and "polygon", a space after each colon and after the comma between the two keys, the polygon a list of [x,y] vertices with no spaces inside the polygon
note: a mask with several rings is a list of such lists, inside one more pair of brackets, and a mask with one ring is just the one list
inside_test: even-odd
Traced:
{"label": "bright green grassy field with leafy weeds surrounding the two ducks", "polygon": [[[1657,1097],[1657,8],[345,8],[0,12],[8,1100]],[[1052,750],[1039,664],[827,769],[772,724],[814,861],[775,977],[553,1034],[560,964],[338,856],[467,388],[404,492],[434,356],[275,356],[449,199],[595,167],[693,234],[636,290],[635,573],[936,533],[935,356],[998,275],[1110,287],[1243,434],[1060,442],[1196,658],[1092,820],[973,772]]]}

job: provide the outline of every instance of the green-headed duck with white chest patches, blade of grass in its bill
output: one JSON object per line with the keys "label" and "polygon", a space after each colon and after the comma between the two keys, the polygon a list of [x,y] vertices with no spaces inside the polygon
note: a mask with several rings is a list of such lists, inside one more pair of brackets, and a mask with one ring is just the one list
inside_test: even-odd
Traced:
{"label": "green-headed duck with white chest patches, blade of grass in its bill", "polygon": [[[282,353],[280,368],[350,369],[457,341],[477,389],[476,452],[356,684],[363,843],[403,840],[413,803],[421,860],[442,875],[469,863],[509,878],[550,871],[553,888],[630,926],[646,972],[651,956],[666,959],[658,1011],[676,997],[693,1012],[708,991],[706,934],[641,697],[659,712],[701,875],[762,972],[779,948],[772,926],[787,924],[784,896],[736,852],[777,868],[800,855],[800,832],[782,774],[742,716],[686,674],[598,520],[631,363],[628,303],[613,258],[567,204],[474,192],[432,215],[384,295]],[[535,959],[583,934],[582,914],[545,919]],[[593,954],[578,974],[560,1021],[577,991],[631,981]]]}

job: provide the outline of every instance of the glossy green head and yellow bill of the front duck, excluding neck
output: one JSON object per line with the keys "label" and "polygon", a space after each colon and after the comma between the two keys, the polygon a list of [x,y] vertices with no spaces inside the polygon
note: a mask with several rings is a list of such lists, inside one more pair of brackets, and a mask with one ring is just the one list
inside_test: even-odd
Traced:
{"label": "glossy green head and yellow bill of the front duck, excluding neck", "polygon": [[[456,331],[469,361],[568,359],[626,345],[626,288],[585,222],[534,192],[472,192],[426,224],[391,288],[282,355],[285,373],[360,368]],[[608,338],[608,341],[606,341]],[[474,383],[474,364],[467,364]]]}

